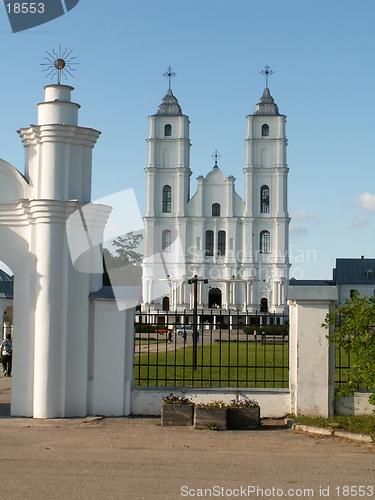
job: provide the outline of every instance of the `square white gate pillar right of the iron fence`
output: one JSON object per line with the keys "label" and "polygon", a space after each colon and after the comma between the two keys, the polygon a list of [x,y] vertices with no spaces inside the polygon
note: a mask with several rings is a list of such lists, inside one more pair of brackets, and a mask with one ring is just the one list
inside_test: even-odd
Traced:
{"label": "square white gate pillar right of the iron fence", "polygon": [[295,415],[333,414],[335,352],[322,327],[337,301],[334,286],[289,286],[290,412]]}

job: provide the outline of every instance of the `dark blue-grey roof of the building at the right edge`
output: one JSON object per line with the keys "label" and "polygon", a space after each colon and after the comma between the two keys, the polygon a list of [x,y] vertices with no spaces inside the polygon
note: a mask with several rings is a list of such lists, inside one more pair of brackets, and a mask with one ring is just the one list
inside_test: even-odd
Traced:
{"label": "dark blue-grey roof of the building at the right edge", "polygon": [[337,285],[375,285],[375,259],[336,259],[333,279]]}

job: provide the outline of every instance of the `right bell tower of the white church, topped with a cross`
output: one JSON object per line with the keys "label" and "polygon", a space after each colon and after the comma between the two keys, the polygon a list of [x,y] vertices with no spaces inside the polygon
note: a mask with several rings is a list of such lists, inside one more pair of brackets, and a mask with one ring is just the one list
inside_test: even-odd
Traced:
{"label": "right bell tower of the white church, topped with a cross", "polygon": [[286,116],[279,113],[267,83],[247,117],[244,233],[252,238],[244,239],[244,255],[255,271],[261,310],[281,312],[290,267]]}

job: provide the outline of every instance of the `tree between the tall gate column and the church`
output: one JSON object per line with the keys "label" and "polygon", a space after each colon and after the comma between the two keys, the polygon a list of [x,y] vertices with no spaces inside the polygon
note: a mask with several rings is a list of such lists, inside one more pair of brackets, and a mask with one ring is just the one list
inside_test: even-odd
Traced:
{"label": "tree between the tall gate column and the church", "polygon": [[142,253],[139,252],[143,236],[129,231],[125,237],[119,236],[111,244],[116,248],[112,253],[103,250],[103,285],[140,285],[142,277]]}

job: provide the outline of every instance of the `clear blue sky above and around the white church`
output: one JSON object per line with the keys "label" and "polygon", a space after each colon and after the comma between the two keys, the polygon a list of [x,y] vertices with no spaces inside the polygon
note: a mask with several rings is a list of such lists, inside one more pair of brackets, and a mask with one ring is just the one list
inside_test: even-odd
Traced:
{"label": "clear blue sky above and around the white church", "polygon": [[46,50],[73,48],[80,125],[102,135],[93,199],[133,188],[145,209],[148,115],[168,82],[190,117],[195,179],[219,166],[243,195],[246,115],[269,87],[287,115],[291,275],[330,278],[338,257],[374,257],[373,0],[80,0],[13,34],[0,8],[0,157],[24,171],[16,133],[37,121]]}

